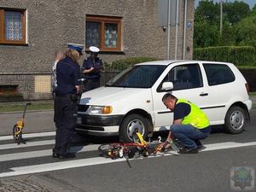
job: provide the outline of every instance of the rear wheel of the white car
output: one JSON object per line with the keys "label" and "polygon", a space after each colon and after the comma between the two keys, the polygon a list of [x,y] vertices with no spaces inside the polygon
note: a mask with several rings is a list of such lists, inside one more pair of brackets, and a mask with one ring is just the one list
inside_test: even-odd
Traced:
{"label": "rear wheel of the white car", "polygon": [[246,125],[246,113],[243,108],[233,106],[226,113],[224,127],[231,134],[238,134]]}

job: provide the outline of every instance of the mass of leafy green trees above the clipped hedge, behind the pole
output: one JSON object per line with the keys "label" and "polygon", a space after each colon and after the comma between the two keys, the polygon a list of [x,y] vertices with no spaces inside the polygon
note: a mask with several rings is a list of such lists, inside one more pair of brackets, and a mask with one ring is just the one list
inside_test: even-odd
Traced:
{"label": "mass of leafy green trees above the clipped hedge, behind the pole", "polygon": [[[251,35],[253,32],[250,31],[249,27],[247,28],[247,26],[244,26],[247,25],[249,20],[242,21],[241,25],[238,24],[241,22],[241,20],[246,20],[246,18],[248,18],[250,15],[256,15],[256,5],[254,6],[253,10],[251,10],[247,3],[238,1],[235,1],[234,3],[225,2],[223,11],[223,32],[222,36],[220,37],[219,3],[213,3],[212,0],[199,2],[199,6],[195,9],[195,48],[219,45],[254,44],[253,40],[243,40],[243,38],[246,38],[245,36],[248,36],[248,34],[250,34],[249,36],[253,38]],[[246,27],[247,34],[245,33],[245,30],[242,30],[242,27]]]}

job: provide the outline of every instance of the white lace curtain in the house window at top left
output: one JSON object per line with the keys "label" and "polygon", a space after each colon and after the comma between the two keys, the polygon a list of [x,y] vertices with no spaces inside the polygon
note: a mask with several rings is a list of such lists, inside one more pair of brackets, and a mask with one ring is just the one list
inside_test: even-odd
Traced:
{"label": "white lace curtain in the house window at top left", "polygon": [[4,26],[6,40],[22,40],[22,22],[20,12],[6,11],[4,13]]}

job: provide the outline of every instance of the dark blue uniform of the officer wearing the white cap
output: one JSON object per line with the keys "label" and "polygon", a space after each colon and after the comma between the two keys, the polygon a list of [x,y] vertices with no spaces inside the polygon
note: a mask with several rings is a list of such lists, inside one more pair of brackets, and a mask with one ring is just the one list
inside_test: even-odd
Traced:
{"label": "dark blue uniform of the officer wearing the white cap", "polygon": [[96,57],[95,61],[93,61],[92,57],[89,56],[84,60],[81,71],[83,72],[84,69],[90,69],[91,67],[94,68],[93,71],[90,73],[84,73],[84,78],[86,79],[84,84],[85,91],[94,90],[100,87],[101,69],[103,68],[102,59]]}

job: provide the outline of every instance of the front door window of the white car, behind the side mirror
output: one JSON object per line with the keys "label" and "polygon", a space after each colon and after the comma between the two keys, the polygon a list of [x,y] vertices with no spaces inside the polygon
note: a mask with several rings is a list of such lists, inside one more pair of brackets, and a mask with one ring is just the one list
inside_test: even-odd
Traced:
{"label": "front door window of the white car, behind the side mirror", "polygon": [[176,66],[166,75],[157,91],[161,92],[164,82],[172,82],[172,90],[185,90],[202,87],[201,69],[198,64]]}

